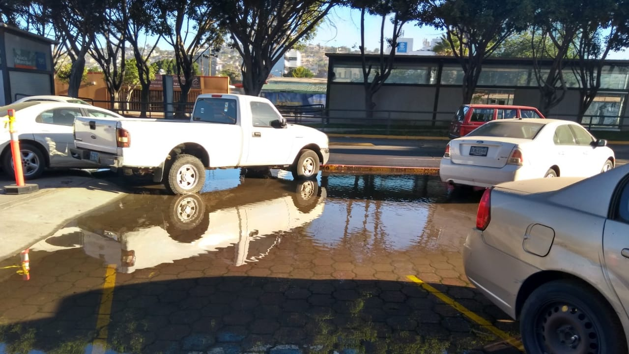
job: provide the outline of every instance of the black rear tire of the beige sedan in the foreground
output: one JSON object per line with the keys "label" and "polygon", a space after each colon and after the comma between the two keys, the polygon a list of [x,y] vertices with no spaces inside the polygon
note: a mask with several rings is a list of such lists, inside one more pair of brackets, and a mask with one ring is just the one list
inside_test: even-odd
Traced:
{"label": "black rear tire of the beige sedan in the foreground", "polygon": [[526,353],[626,353],[616,312],[596,291],[576,282],[545,283],[526,299],[520,333]]}

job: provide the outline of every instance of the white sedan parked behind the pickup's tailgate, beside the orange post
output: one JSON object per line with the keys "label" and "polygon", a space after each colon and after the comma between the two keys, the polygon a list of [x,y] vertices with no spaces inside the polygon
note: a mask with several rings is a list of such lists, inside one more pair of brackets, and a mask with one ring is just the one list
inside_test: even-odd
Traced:
{"label": "white sedan parked behind the pickup's tailgate, beside the orange post", "polygon": [[[74,147],[74,117],[111,117],[121,115],[104,108],[80,103],[29,101],[0,107],[0,120],[15,110],[16,130],[22,154],[24,177],[38,178],[45,168],[94,168],[70,156]],[[14,177],[8,126],[0,125],[0,162],[5,174]]]}

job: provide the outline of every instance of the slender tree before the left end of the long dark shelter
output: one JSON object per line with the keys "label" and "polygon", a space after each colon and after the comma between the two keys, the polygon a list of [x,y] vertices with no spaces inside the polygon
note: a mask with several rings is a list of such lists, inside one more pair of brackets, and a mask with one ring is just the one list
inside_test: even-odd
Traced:
{"label": "slender tree before the left end of the long dark shelter", "polygon": [[[362,60],[362,81],[365,88],[365,113],[367,118],[373,117],[374,94],[382,87],[382,84],[391,75],[394,66],[395,52],[398,47],[398,38],[402,35],[405,23],[418,18],[420,1],[404,0],[355,0],[350,3],[353,8],[360,9],[360,58]],[[380,48],[377,60],[367,60],[365,52],[365,15],[373,14],[381,16],[380,23]],[[391,37],[385,37],[384,25],[387,16],[391,16],[393,28]],[[385,47],[388,45],[388,49]],[[375,61],[375,62],[374,62]]]}

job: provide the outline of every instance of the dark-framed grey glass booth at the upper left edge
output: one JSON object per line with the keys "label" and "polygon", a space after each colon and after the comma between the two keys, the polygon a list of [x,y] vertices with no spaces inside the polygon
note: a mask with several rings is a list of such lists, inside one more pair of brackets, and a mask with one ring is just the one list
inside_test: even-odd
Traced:
{"label": "dark-framed grey glass booth at the upper left edge", "polygon": [[55,41],[0,23],[0,106],[35,94],[54,94]]}

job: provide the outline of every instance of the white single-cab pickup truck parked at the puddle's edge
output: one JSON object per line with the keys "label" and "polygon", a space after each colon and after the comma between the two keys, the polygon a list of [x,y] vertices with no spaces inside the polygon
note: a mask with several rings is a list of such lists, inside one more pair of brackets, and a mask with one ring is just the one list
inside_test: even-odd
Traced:
{"label": "white single-cab pickup truck parked at the puddle's edge", "polygon": [[173,194],[196,193],[205,169],[280,168],[314,178],[330,156],[328,137],[287,124],[265,98],[201,94],[189,121],[77,117],[72,157],[129,173],[152,173]]}

